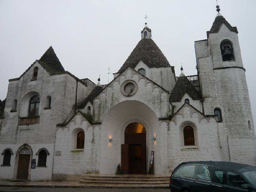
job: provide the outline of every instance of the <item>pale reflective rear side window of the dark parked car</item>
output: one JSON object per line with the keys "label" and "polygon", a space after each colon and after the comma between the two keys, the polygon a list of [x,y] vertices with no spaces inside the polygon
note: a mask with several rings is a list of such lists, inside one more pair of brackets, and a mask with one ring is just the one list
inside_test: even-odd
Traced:
{"label": "pale reflective rear side window of the dark parked car", "polygon": [[205,165],[181,166],[173,175],[210,181],[210,176]]}

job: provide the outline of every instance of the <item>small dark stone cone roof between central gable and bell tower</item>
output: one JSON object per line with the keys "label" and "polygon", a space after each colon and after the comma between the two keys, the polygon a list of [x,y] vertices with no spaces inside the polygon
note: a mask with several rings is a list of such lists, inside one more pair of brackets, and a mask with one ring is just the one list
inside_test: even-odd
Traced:
{"label": "small dark stone cone roof between central gable and bell tower", "polygon": [[180,101],[185,93],[189,94],[189,96],[192,97],[193,100],[200,99],[197,90],[194,88],[191,82],[187,79],[187,77],[179,77],[173,88],[173,91],[171,92],[169,101],[170,102]]}

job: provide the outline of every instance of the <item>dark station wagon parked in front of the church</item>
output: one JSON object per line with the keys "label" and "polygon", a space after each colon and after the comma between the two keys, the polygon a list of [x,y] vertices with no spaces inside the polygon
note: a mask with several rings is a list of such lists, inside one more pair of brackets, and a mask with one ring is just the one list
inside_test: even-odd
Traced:
{"label": "dark station wagon parked in front of the church", "polygon": [[256,167],[223,161],[178,165],[170,177],[171,192],[256,192]]}

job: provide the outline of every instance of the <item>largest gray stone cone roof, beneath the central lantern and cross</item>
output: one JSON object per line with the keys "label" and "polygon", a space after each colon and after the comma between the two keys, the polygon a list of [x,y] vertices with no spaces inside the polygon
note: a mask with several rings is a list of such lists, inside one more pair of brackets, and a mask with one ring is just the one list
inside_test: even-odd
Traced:
{"label": "largest gray stone cone roof, beneath the central lantern and cross", "polygon": [[171,67],[156,43],[151,38],[143,38],[117,73],[122,73],[128,67],[134,69],[140,60],[149,68]]}

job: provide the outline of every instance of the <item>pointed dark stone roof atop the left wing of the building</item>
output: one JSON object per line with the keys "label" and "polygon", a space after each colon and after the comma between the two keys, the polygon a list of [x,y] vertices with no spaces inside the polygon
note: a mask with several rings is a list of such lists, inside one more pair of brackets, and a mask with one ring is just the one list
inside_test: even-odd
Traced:
{"label": "pointed dark stone roof atop the left wing of the building", "polygon": [[52,46],[47,49],[39,61],[43,68],[45,68],[50,74],[65,71]]}

